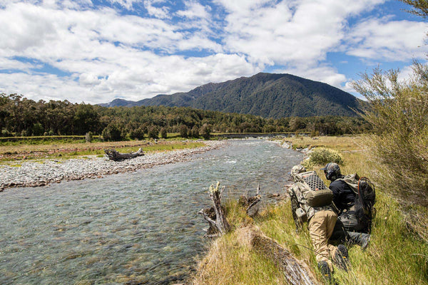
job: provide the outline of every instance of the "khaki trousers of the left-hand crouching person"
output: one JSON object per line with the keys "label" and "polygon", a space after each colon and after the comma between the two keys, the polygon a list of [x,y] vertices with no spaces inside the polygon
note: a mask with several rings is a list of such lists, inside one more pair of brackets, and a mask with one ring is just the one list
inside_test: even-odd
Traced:
{"label": "khaki trousers of the left-hand crouching person", "polygon": [[334,259],[337,247],[328,244],[328,239],[332,236],[333,229],[337,220],[337,214],[333,211],[316,212],[309,221],[310,239],[314,247],[317,262],[327,261],[332,270],[332,261]]}

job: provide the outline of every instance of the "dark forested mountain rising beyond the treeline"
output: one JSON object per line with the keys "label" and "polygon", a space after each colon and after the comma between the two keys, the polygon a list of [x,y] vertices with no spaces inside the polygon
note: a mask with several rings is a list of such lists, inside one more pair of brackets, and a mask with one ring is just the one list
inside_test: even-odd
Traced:
{"label": "dark forested mountain rising beyond the treeline", "polygon": [[186,93],[160,94],[139,101],[115,99],[104,107],[158,106],[191,107],[227,113],[260,115],[264,118],[290,116],[355,116],[361,100],[326,83],[291,74],[258,73],[223,83],[208,83]]}

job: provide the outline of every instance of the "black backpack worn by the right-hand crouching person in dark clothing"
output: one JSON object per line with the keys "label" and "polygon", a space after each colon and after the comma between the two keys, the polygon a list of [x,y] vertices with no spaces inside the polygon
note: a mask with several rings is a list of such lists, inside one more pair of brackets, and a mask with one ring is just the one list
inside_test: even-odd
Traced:
{"label": "black backpack worn by the right-hand crouching person in dark clothing", "polygon": [[340,178],[355,192],[355,218],[358,224],[364,226],[365,232],[370,232],[372,219],[376,215],[374,203],[376,191],[374,185],[367,177],[359,177],[357,174],[346,175]]}

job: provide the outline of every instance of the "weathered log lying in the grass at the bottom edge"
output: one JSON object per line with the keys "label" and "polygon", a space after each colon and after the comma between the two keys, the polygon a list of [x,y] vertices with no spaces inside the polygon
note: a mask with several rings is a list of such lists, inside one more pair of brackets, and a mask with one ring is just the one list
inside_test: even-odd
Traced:
{"label": "weathered log lying in the grass at the bottom edge", "polygon": [[260,229],[255,227],[240,229],[238,240],[244,242],[250,250],[255,250],[265,258],[273,261],[290,284],[314,285],[319,284],[308,266],[297,260],[287,249],[280,246],[275,240],[266,237]]}

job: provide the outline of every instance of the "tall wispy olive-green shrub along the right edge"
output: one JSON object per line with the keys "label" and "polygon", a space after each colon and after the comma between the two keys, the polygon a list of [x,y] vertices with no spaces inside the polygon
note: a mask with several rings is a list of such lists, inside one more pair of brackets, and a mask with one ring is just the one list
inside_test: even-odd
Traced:
{"label": "tall wispy olive-green shrub along the right edge", "polygon": [[367,144],[377,162],[376,182],[401,204],[426,208],[428,67],[414,62],[409,80],[399,81],[398,76],[398,71],[377,68],[362,74],[354,88],[367,99],[361,115],[374,130]]}

